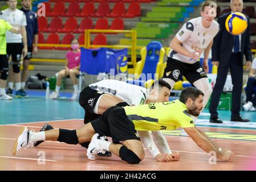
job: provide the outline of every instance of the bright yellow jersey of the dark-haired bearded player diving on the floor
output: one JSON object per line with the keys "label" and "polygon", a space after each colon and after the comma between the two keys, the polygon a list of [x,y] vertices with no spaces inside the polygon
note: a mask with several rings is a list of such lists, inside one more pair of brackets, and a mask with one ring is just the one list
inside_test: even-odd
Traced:
{"label": "bright yellow jersey of the dark-haired bearded player diving on the floor", "polygon": [[186,105],[179,100],[139,106],[125,106],[125,113],[138,131],[175,130],[194,127]]}

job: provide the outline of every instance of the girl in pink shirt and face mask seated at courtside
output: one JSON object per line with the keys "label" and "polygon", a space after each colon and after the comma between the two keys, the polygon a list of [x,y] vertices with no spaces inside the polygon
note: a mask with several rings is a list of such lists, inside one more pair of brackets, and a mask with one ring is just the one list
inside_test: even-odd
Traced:
{"label": "girl in pink shirt and face mask seated at courtside", "polygon": [[52,92],[50,98],[58,98],[60,85],[62,83],[62,79],[66,77],[70,77],[73,82],[74,93],[71,97],[71,100],[76,100],[78,98],[78,80],[76,76],[79,75],[80,69],[80,49],[78,39],[74,38],[71,41],[71,50],[66,54],[66,63],[64,69],[59,71],[57,75],[57,82],[55,92]]}

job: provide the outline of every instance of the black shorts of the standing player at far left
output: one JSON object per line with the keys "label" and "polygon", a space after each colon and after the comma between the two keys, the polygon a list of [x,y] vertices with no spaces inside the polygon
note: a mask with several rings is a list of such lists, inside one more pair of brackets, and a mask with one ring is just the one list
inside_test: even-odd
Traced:
{"label": "black shorts of the standing player at far left", "polygon": [[7,57],[9,58],[11,56],[11,61],[15,63],[21,61],[22,49],[22,43],[7,43]]}

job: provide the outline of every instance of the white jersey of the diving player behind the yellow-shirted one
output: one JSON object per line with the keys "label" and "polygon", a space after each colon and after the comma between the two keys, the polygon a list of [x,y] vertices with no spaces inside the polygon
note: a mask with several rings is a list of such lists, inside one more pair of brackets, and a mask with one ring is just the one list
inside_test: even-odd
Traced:
{"label": "white jersey of the diving player behind the yellow-shirted one", "polygon": [[129,105],[145,104],[149,97],[149,89],[118,80],[101,80],[89,86],[99,92],[112,94]]}

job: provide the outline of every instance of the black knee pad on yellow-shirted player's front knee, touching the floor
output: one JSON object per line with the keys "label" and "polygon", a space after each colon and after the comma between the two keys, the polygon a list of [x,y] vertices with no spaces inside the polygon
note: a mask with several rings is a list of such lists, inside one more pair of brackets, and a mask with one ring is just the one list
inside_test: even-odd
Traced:
{"label": "black knee pad on yellow-shirted player's front knee, touching the floor", "polygon": [[135,152],[129,150],[127,147],[122,146],[119,150],[119,156],[122,160],[125,160],[129,164],[139,164],[140,158],[135,154]]}

